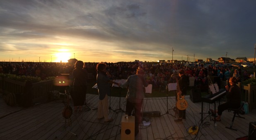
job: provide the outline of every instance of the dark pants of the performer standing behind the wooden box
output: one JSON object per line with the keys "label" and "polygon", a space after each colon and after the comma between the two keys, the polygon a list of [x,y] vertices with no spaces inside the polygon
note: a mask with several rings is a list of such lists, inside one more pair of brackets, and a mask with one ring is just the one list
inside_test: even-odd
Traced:
{"label": "dark pants of the performer standing behind the wooden box", "polygon": [[134,116],[135,116],[135,133],[139,132],[139,125],[141,121],[141,106],[142,106],[143,99],[140,99],[136,101],[136,103],[130,102],[129,99],[127,99],[126,103],[126,113],[128,113],[128,116],[132,115],[132,111],[134,109]]}

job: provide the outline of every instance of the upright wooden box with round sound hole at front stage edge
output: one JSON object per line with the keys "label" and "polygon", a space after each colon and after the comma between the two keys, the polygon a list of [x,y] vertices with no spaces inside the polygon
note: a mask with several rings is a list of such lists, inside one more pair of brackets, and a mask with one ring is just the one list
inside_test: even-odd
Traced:
{"label": "upright wooden box with round sound hole at front stage edge", "polygon": [[134,140],[135,139],[135,117],[128,116],[122,117],[121,122],[121,140]]}

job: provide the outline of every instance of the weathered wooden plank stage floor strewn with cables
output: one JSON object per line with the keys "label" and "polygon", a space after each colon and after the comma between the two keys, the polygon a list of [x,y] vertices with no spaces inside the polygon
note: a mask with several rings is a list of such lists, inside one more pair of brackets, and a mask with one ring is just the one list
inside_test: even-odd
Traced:
{"label": "weathered wooden plank stage floor strewn with cables", "polygon": [[[87,106],[84,106],[82,113],[73,113],[71,126],[65,123],[62,116],[64,104],[61,99],[51,102],[36,104],[24,109],[19,106],[7,106],[0,97],[0,140],[121,140],[121,118],[125,114],[118,110],[110,111],[109,116],[114,118],[110,123],[104,123],[104,119],[97,119],[98,96],[87,94]],[[233,128],[225,128],[232,121],[232,112],[225,111],[222,114],[222,121],[217,122],[217,129],[214,129],[213,121],[210,121],[208,114],[203,114],[201,124],[201,102],[193,103],[189,97],[186,110],[186,120],[183,123],[174,122],[175,97],[145,98],[143,103],[144,111],[160,111],[162,116],[151,117],[149,126],[140,125],[140,132],[135,140],[236,140],[236,138],[248,135],[249,122],[256,121],[256,109],[242,115],[245,117],[234,120]],[[126,99],[121,97],[121,109],[125,110]],[[73,104],[71,101],[71,106]],[[119,97],[111,97],[111,109],[119,109]],[[210,108],[214,109],[213,104]],[[89,108],[88,108],[89,107]],[[217,105],[216,105],[217,107]],[[169,110],[170,109],[170,110]],[[204,103],[204,112],[209,110],[209,105]],[[211,117],[213,118],[213,117]],[[77,134],[77,136],[65,130]],[[189,134],[191,126],[198,126],[197,135]],[[58,136],[56,138],[56,136]]]}

